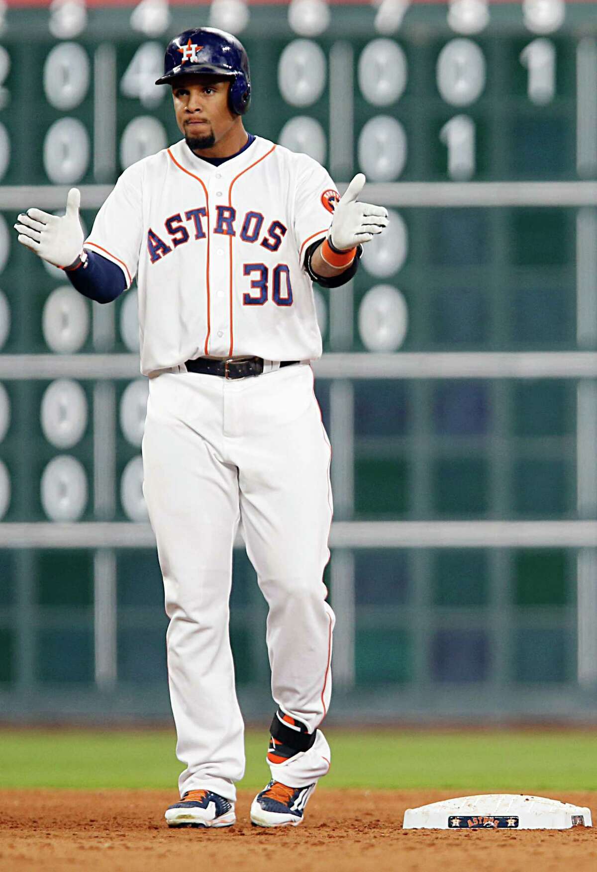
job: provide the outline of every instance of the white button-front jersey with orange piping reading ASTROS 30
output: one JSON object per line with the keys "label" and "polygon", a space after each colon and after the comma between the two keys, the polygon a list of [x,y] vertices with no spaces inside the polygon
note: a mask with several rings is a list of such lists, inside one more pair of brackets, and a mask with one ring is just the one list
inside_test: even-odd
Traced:
{"label": "white button-front jersey with orange piping reading ASTROS 30", "polygon": [[255,141],[214,167],[181,140],[120,176],[86,249],[139,289],[141,372],[190,358],[321,354],[305,251],[338,199],[305,154]]}

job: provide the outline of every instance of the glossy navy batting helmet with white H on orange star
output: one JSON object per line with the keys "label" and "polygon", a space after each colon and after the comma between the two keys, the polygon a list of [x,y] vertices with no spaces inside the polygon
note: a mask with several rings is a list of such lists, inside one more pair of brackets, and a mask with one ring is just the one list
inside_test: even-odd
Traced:
{"label": "glossy navy batting helmet with white H on orange star", "polygon": [[230,109],[244,115],[250,104],[249,58],[243,44],[226,31],[199,27],[182,31],[166,49],[164,74],[156,85],[170,85],[189,73],[231,78]]}

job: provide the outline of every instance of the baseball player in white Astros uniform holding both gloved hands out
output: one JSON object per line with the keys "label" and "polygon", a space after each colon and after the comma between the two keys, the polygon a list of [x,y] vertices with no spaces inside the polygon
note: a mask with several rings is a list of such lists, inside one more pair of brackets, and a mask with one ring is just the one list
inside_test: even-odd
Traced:
{"label": "baseball player in white Astros uniform holding both gloved hands out", "polygon": [[211,28],[168,44],[164,75],[182,140],[120,175],[84,242],[79,191],[64,217],[18,215],[22,242],[107,303],[137,276],[142,442],[149,519],[170,619],[168,680],[186,764],[170,827],[229,827],[244,774],[229,641],[239,524],[269,605],[277,705],[271,780],[250,808],[261,827],[297,825],[330,766],[334,616],[323,571],[332,523],[331,449],[313,393],[321,354],[312,282],[356,272],[385,208],[340,198],[323,167],[246,133],[249,63]]}

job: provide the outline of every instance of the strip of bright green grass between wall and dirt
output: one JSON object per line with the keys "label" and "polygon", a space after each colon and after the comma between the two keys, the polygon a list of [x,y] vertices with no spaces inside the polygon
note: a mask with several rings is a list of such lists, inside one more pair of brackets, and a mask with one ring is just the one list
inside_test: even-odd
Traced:
{"label": "strip of bright green grass between wall and dirt", "polygon": [[[591,732],[326,731],[332,769],[321,787],[435,788],[479,793],[597,790]],[[239,787],[269,778],[266,737],[247,732]],[[0,731],[0,787],[175,791],[182,764],[170,731]]]}

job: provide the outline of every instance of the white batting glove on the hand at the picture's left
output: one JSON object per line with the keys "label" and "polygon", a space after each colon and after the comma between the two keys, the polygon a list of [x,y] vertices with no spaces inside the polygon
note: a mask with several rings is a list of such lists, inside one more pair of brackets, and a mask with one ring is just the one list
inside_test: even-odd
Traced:
{"label": "white batting glove on the hand at the picture's left", "polygon": [[50,215],[41,209],[27,209],[14,225],[18,241],[55,267],[70,267],[83,250],[83,228],[79,221],[79,188],[72,187],[66,197],[66,215]]}

